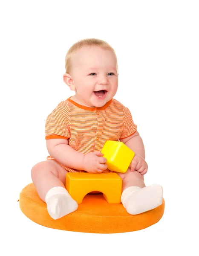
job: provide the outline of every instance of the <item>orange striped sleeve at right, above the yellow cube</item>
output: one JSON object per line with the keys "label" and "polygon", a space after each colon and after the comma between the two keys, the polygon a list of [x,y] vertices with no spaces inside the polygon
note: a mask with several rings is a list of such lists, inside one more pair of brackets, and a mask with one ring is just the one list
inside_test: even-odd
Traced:
{"label": "orange striped sleeve at right, above the yellow cube", "polygon": [[134,124],[131,113],[128,108],[126,108],[127,111],[125,111],[125,121],[124,121],[124,128],[121,134],[121,137],[119,140],[125,139],[127,137],[130,137],[137,131],[137,125]]}

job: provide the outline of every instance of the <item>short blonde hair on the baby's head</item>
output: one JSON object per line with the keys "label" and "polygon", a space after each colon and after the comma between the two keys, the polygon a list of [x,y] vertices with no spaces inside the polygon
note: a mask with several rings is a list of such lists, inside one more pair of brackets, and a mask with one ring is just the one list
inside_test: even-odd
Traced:
{"label": "short blonde hair on the baby's head", "polygon": [[[66,58],[65,58],[66,73],[70,72],[70,69],[71,69],[71,61],[70,60],[71,60],[72,55],[75,54],[76,52],[78,52],[78,50],[80,50],[84,46],[98,46],[98,47],[101,47],[104,49],[110,49],[115,54],[115,50],[110,46],[110,44],[108,44],[107,42],[105,42],[103,40],[96,39],[96,38],[83,39],[83,40],[78,41],[75,44],[73,44],[72,47],[70,47],[68,52],[66,53]],[[116,54],[115,54],[115,58],[117,59]],[[118,69],[118,64],[117,64],[117,69]]]}

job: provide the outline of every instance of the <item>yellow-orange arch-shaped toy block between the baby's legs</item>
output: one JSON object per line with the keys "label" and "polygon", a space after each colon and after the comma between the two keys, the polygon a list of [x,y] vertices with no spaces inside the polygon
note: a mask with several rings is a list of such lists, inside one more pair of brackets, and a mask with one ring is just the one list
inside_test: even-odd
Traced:
{"label": "yellow-orange arch-shaped toy block between the baby's legs", "polygon": [[120,204],[121,188],[122,179],[116,173],[69,172],[66,174],[66,189],[78,204],[81,204],[84,196],[92,191],[102,192],[109,204]]}

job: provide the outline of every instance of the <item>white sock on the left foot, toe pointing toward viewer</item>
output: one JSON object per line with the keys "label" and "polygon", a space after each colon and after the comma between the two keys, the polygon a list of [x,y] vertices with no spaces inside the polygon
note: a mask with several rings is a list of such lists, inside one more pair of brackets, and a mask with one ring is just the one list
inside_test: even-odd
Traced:
{"label": "white sock on the left foot, toe pointing toward viewer", "polygon": [[78,209],[78,203],[73,200],[69,192],[61,186],[50,189],[46,194],[45,201],[49,215],[54,220],[62,218]]}

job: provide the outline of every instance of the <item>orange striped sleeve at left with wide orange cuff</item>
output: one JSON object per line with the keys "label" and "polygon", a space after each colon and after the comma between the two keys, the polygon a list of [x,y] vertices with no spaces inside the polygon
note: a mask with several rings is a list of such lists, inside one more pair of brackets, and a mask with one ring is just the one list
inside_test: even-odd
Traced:
{"label": "orange striped sleeve at left with wide orange cuff", "polygon": [[46,140],[66,139],[70,137],[69,124],[66,117],[63,116],[57,108],[50,113],[46,119],[45,125]]}

